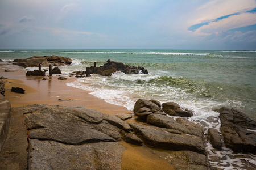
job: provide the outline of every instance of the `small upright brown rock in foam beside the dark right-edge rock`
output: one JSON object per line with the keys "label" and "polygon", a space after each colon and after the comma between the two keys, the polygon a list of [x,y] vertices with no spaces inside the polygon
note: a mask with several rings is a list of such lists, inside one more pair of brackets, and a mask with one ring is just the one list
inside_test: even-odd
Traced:
{"label": "small upright brown rock in foam beside the dark right-edge rock", "polygon": [[221,150],[222,142],[217,129],[209,128],[207,132],[207,138],[214,148]]}

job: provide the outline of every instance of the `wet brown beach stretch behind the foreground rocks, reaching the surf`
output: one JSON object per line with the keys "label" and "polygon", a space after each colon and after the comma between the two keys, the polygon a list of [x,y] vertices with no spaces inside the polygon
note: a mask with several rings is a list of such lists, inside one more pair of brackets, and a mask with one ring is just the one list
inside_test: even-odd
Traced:
{"label": "wet brown beach stretch behind the foreground rocks, reaching the surf", "polygon": [[[0,76],[6,77],[6,80],[11,82],[6,83],[5,96],[11,102],[12,107],[31,104],[76,105],[95,109],[106,114],[133,113],[125,107],[106,103],[103,99],[89,94],[90,91],[67,86],[66,83],[72,82],[75,78],[58,80],[58,76],[25,76],[26,71],[23,70],[3,71],[4,69],[0,68]],[[42,80],[44,77],[48,80]],[[11,87],[23,88],[26,90],[25,94],[11,92]]]}

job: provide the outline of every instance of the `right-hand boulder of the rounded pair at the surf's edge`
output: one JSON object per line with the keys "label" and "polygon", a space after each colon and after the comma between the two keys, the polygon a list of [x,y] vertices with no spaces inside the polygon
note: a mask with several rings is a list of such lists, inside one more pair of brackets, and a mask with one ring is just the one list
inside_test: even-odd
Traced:
{"label": "right-hand boulder of the rounded pair at the surf's edge", "polygon": [[167,102],[162,104],[163,112],[171,116],[180,116],[180,117],[191,117],[193,116],[192,112],[184,111],[180,108],[180,105],[175,102]]}

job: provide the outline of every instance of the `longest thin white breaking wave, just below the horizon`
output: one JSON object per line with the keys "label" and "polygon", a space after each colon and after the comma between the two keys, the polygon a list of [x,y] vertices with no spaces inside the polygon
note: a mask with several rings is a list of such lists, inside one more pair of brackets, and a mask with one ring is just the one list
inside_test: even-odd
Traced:
{"label": "longest thin white breaking wave, just below the horizon", "polygon": [[179,52],[61,52],[61,53],[106,53],[106,54],[156,54],[171,56],[209,56],[210,53],[179,53]]}

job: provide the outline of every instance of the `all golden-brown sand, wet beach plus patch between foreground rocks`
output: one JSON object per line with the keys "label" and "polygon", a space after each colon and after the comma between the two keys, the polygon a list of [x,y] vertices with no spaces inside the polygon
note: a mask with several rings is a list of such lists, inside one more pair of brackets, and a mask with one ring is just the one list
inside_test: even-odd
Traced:
{"label": "all golden-brown sand, wet beach plus patch between foreground rocks", "polygon": [[[4,72],[0,67],[0,77],[4,76],[11,83],[5,84],[5,96],[11,102],[11,107],[20,107],[31,104],[49,104],[49,105],[77,105],[86,108],[95,109],[106,114],[130,113],[125,107],[106,103],[89,94],[90,91],[80,90],[69,87],[65,83],[72,82],[73,78],[68,80],[58,80],[57,76],[48,77],[48,80],[42,80],[42,77],[25,76],[26,71]],[[23,88],[25,94],[11,92],[11,87]],[[61,101],[59,99],[62,99]],[[135,122],[135,120],[129,120]],[[154,150],[146,146],[130,145],[126,142],[119,142],[127,148],[122,156],[122,169],[174,169],[163,158],[152,154]]]}

